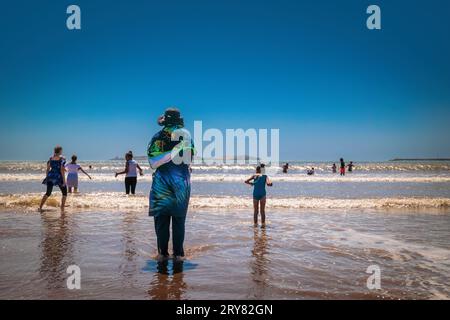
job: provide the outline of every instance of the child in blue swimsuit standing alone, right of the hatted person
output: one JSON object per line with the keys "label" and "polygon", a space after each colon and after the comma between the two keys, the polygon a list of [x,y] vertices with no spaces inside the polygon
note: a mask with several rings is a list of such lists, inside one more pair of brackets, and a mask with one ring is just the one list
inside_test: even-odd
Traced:
{"label": "child in blue swimsuit standing alone, right of the hatted person", "polygon": [[245,180],[246,184],[253,186],[253,222],[258,225],[258,214],[261,211],[261,226],[266,224],[266,185],[273,184],[267,175],[261,174],[264,165],[256,167],[256,174]]}

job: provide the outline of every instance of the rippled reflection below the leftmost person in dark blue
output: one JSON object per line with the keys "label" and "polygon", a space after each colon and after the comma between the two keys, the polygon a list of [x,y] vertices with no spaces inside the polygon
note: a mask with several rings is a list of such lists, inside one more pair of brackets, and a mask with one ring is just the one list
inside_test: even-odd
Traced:
{"label": "rippled reflection below the leftmost person in dark blue", "polygon": [[63,288],[66,268],[73,263],[72,232],[65,214],[41,214],[43,238],[40,244],[39,274],[45,278],[48,289]]}

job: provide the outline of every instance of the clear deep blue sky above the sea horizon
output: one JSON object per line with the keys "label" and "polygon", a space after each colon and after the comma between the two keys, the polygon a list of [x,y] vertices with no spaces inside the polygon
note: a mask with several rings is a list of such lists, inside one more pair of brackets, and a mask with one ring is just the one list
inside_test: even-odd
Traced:
{"label": "clear deep blue sky above the sea horizon", "polygon": [[6,0],[0,159],[144,154],[169,105],[188,128],[279,128],[283,159],[450,157],[449,14],[445,0]]}

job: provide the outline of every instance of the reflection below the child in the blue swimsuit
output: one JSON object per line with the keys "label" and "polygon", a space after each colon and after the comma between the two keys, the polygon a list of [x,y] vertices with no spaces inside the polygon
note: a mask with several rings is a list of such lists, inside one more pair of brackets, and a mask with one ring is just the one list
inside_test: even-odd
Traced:
{"label": "reflection below the child in the blue swimsuit", "polygon": [[262,299],[266,296],[268,288],[268,265],[267,253],[269,249],[266,228],[255,227],[253,230],[253,250],[250,260],[250,272],[254,286],[250,296],[255,299]]}

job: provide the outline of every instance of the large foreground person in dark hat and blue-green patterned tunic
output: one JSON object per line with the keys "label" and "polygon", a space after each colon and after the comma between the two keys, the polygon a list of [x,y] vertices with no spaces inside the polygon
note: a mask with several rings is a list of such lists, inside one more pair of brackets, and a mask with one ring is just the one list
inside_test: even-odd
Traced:
{"label": "large foreground person in dark hat and blue-green patterned tunic", "polygon": [[154,217],[158,245],[158,261],[169,258],[170,222],[174,262],[184,260],[186,215],[191,194],[190,163],[194,145],[177,108],[168,108],[158,118],[163,129],[147,147],[153,173],[149,197],[149,216]]}

